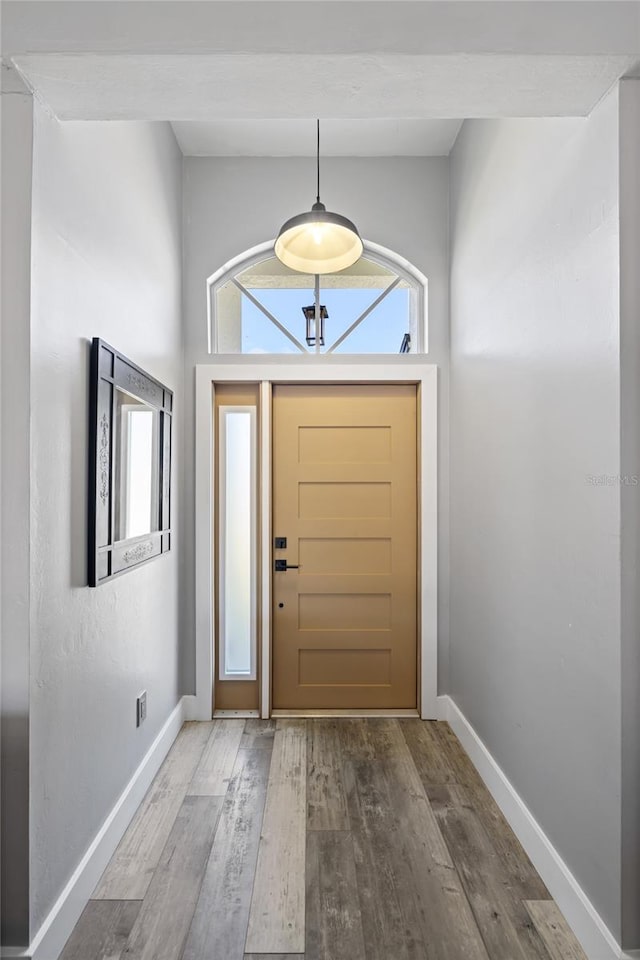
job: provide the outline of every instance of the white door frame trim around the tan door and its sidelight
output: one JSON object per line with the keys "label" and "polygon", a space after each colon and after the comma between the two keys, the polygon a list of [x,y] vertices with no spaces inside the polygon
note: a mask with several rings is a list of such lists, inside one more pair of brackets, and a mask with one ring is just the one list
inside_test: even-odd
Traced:
{"label": "white door frame trim around the tan door and its sidelight", "polygon": [[[411,383],[418,386],[419,411],[419,653],[420,716],[437,718],[438,695],[438,367],[418,355],[256,358],[229,355],[196,365],[195,408],[195,641],[196,690],[193,719],[210,720],[214,679],[215,542],[213,464],[216,383],[259,383],[261,401],[261,582],[262,643],[260,713],[271,716],[271,387],[279,383]],[[214,703],[215,709],[215,703]]]}

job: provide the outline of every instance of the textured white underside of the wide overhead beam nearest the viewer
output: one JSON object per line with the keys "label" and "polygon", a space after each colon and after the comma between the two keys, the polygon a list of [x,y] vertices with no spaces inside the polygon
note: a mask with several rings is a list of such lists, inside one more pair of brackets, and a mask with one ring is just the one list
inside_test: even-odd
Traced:
{"label": "textured white underside of the wide overhead beam nearest the viewer", "polygon": [[587,116],[634,60],[559,54],[19,54],[61,120]]}

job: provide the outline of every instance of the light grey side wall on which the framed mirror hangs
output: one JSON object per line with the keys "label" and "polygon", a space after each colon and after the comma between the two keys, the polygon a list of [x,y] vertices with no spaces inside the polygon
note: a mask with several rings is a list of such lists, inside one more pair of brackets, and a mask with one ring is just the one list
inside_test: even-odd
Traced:
{"label": "light grey side wall on which the framed mirror hangs", "polygon": [[178,526],[181,162],[168,125],[59,124],[36,111],[32,934],[179,699],[179,531],[167,556],[90,589],[85,518],[89,343],[100,336],[176,392]]}

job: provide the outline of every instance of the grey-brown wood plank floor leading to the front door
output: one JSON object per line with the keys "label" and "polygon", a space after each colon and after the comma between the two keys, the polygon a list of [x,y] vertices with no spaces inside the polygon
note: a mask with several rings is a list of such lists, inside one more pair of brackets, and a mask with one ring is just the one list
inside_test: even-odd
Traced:
{"label": "grey-brown wood plank floor leading to the front door", "polygon": [[586,960],[446,723],[185,724],[60,960]]}

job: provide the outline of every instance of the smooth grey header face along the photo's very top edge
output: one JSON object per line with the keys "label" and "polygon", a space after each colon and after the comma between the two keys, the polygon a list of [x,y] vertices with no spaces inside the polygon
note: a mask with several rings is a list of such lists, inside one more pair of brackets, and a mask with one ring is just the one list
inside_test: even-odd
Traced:
{"label": "smooth grey header face along the photo's very top edge", "polygon": [[2,0],[17,53],[640,55],[640,4],[618,0]]}

